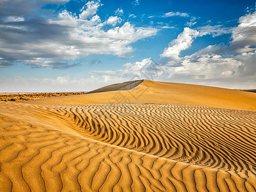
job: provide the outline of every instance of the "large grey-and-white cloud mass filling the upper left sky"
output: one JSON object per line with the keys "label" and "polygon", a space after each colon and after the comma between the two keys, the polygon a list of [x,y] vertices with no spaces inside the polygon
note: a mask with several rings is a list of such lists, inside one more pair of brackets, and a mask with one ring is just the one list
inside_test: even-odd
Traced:
{"label": "large grey-and-white cloud mass filling the upper left sky", "polygon": [[[22,0],[16,1],[19,4]],[[38,7],[34,1],[27,4],[31,10],[33,6]],[[4,6],[8,9],[8,1]],[[155,28],[138,28],[130,22],[114,27],[122,20],[109,17],[102,21],[97,15],[100,6],[100,1],[88,1],[77,15],[63,10],[50,19],[38,15],[26,17],[28,10],[23,8],[15,12],[20,15],[3,11],[0,15],[0,67],[15,62],[31,67],[75,67],[76,62],[68,63],[88,54],[125,56],[132,51],[130,44],[157,33]],[[3,10],[1,6],[0,10]],[[106,24],[113,27],[106,29]]]}

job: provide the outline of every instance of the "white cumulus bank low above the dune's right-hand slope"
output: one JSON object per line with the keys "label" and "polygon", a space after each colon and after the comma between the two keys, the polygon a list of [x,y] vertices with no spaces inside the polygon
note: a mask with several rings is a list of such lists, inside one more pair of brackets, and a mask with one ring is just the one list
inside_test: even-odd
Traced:
{"label": "white cumulus bank low above the dune's right-hand slope", "polygon": [[[217,47],[212,49],[217,49]],[[255,88],[255,60],[255,51],[243,52],[237,56],[195,53],[182,58],[179,65],[173,65],[172,61],[164,65],[168,77],[162,81],[226,88]]]}

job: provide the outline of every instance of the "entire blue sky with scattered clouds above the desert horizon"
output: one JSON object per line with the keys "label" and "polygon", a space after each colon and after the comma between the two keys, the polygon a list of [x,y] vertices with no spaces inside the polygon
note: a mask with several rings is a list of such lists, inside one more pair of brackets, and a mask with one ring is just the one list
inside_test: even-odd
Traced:
{"label": "entire blue sky with scattered clouds above the desert horizon", "polygon": [[136,79],[256,88],[255,1],[0,1],[0,92]]}

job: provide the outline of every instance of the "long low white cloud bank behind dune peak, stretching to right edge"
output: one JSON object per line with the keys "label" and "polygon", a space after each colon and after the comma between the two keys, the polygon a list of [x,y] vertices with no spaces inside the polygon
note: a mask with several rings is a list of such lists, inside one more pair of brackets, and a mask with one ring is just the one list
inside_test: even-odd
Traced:
{"label": "long low white cloud bank behind dune peak, stretching to right edge", "polygon": [[[185,56],[179,66],[154,66],[151,58],[126,63],[119,70],[93,71],[104,83],[120,83],[135,79],[204,84],[226,88],[255,88],[256,51],[236,57],[220,54],[193,54]],[[116,78],[117,77],[117,78]]]}

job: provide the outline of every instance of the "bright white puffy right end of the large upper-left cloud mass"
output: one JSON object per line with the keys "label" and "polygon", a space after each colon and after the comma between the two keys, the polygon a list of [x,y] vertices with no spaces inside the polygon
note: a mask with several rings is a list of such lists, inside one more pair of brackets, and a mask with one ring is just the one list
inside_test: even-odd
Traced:
{"label": "bright white puffy right end of the large upper-left cloud mass", "polygon": [[[104,31],[102,26],[104,23],[100,22],[98,15],[94,15],[90,20],[82,20],[70,13],[65,12],[60,15],[60,19],[52,20],[52,23],[65,24],[66,26],[72,26],[73,30],[70,31],[69,38],[74,43],[72,47],[64,45],[58,46],[67,49],[67,54],[72,52],[74,58],[83,54],[100,54],[100,53],[113,53],[118,56],[122,56],[127,52],[131,52],[132,48],[127,46],[132,42],[136,42],[141,38],[155,35],[157,29],[154,28],[135,28],[130,22],[125,22],[121,27],[116,27]],[[106,21],[113,26],[120,22],[119,17],[109,17]]]}

